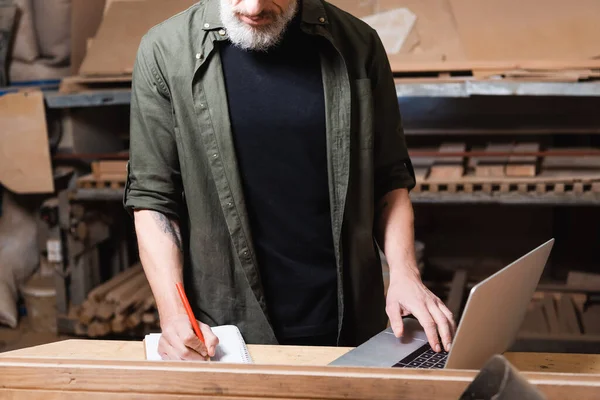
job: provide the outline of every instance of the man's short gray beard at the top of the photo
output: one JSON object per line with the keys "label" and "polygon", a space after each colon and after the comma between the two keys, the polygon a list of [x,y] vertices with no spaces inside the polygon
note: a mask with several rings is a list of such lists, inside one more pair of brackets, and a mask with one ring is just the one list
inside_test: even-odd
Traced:
{"label": "man's short gray beard at the top of the photo", "polygon": [[[286,10],[268,25],[252,27],[240,21],[229,0],[221,0],[221,22],[229,40],[241,49],[266,51],[279,43],[289,22],[298,9],[298,1],[292,0]],[[243,11],[243,10],[242,10]]]}

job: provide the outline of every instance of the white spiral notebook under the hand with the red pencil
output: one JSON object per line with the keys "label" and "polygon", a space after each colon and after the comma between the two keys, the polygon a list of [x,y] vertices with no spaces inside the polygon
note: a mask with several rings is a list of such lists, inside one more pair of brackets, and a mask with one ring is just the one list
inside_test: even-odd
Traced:
{"label": "white spiral notebook under the hand with the red pencil", "polygon": [[[242,338],[240,330],[235,325],[221,325],[212,328],[214,334],[219,338],[219,344],[215,350],[215,356],[211,361],[224,363],[252,364],[252,357]],[[158,354],[158,341],[160,333],[151,333],[144,338],[146,349],[146,360],[162,360]]]}

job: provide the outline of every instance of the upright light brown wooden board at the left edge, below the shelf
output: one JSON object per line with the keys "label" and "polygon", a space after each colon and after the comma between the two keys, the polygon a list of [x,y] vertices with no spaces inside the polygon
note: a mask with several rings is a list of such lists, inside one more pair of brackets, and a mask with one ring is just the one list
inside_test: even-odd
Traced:
{"label": "upright light brown wooden board at the left edge, below the shelf", "polygon": [[0,96],[0,127],[0,183],[16,193],[54,192],[42,92]]}

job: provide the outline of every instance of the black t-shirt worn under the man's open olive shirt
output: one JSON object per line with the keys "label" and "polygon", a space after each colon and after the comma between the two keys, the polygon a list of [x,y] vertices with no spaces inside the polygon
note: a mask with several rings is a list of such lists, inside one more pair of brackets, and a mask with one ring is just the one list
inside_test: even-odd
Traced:
{"label": "black t-shirt worn under the man's open olive shirt", "polygon": [[325,103],[314,40],[294,21],[268,52],[229,42],[220,48],[252,240],[281,341],[337,330]]}

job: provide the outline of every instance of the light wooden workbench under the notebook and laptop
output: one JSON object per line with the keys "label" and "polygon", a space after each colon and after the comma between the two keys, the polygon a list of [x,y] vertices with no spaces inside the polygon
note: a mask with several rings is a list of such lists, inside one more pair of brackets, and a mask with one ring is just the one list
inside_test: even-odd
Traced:
{"label": "light wooden workbench under the notebook and laptop", "polygon": [[[66,340],[0,354],[0,398],[458,399],[478,371],[347,368],[350,348],[248,346],[252,365],[145,361],[142,342]],[[548,399],[600,398],[600,355],[507,353]]]}

